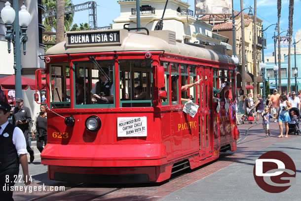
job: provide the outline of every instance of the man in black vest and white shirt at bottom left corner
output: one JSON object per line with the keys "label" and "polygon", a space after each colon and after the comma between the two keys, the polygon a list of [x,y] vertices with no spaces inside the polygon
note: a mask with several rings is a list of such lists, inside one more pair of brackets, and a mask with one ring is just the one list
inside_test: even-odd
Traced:
{"label": "man in black vest and white shirt at bottom left corner", "polygon": [[13,201],[11,187],[19,182],[19,161],[25,185],[31,183],[28,174],[26,142],[23,132],[7,121],[10,105],[0,102],[0,200]]}

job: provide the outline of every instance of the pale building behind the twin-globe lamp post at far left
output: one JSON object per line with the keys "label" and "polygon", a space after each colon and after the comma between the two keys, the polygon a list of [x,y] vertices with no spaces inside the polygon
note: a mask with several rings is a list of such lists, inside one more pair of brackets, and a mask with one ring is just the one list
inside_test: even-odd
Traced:
{"label": "pale building behind the twin-globe lamp post at far left", "polygon": [[[13,0],[8,0],[13,6]],[[24,0],[18,0],[19,10]],[[6,0],[0,0],[0,10],[5,6]],[[28,12],[31,14],[31,21],[27,29],[28,41],[26,42],[26,55],[23,52],[23,46],[21,45],[21,64],[22,64],[22,76],[35,79],[35,71],[39,68],[44,68],[43,60],[39,59],[39,55],[44,54],[44,45],[42,44],[42,32],[43,26],[41,22],[41,14],[43,12],[43,6],[41,0],[26,0],[25,6]],[[19,27],[16,28],[19,30]],[[5,40],[6,28],[0,17],[0,78],[15,74],[14,56],[13,51],[9,54],[7,52],[7,40]],[[13,44],[11,43],[11,49]],[[32,116],[39,111],[39,105],[34,102],[35,90],[22,90],[22,97],[24,99],[24,105],[31,109]]]}

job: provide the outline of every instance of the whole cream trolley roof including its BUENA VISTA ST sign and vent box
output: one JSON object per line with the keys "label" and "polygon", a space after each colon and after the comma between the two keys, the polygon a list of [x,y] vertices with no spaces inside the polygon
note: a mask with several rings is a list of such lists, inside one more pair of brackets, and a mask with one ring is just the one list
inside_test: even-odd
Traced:
{"label": "whole cream trolley roof including its BUENA VISTA ST sign and vent box", "polygon": [[[108,41],[108,38],[111,37],[112,39],[112,36],[117,36],[117,39]],[[107,40],[104,41],[103,37],[106,37]],[[96,42],[97,39],[99,42]],[[146,35],[143,32],[128,32],[124,29],[93,30],[67,32],[66,41],[58,43],[49,48],[46,51],[46,55],[88,52],[164,50],[165,53],[234,64],[233,60],[229,56],[221,54],[219,51],[212,50],[217,49],[215,46],[220,45],[208,45],[206,48],[203,48],[176,42],[175,32],[169,30],[150,31],[150,35]]]}

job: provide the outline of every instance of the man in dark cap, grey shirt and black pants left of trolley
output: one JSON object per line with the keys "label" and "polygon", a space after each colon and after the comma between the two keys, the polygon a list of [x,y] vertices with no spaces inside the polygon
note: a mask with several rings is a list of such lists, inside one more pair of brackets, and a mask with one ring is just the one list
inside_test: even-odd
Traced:
{"label": "man in dark cap, grey shirt and black pants left of trolley", "polygon": [[35,155],[34,155],[34,151],[29,146],[29,142],[28,142],[29,122],[31,121],[32,121],[32,117],[29,108],[23,106],[22,98],[20,97],[16,98],[16,107],[12,114],[12,123],[23,131],[26,140],[26,149],[30,155],[30,161],[33,162],[35,160]]}

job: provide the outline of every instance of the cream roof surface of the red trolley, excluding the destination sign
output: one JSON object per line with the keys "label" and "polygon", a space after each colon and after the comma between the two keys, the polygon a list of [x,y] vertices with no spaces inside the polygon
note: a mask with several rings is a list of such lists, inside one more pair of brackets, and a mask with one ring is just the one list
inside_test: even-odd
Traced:
{"label": "cream roof surface of the red trolley, excluding the destination sign", "polygon": [[[66,41],[58,43],[46,51],[46,55],[51,54],[67,54],[67,53],[85,53],[85,52],[113,52],[113,51],[153,51],[153,50],[164,50],[165,53],[179,54],[183,56],[196,57],[199,59],[219,61],[223,63],[233,64],[233,60],[221,53],[205,49],[203,47],[198,47],[194,45],[189,45],[185,43],[168,42],[168,40],[161,39],[162,37],[154,37],[153,35],[158,33],[158,31],[151,32],[152,36],[145,34],[137,34],[129,32],[128,35],[121,41],[121,45],[104,45],[99,46],[81,46],[81,47],[67,47]],[[162,31],[163,33],[163,31]],[[164,33],[166,34],[166,32]]]}

